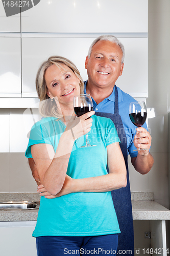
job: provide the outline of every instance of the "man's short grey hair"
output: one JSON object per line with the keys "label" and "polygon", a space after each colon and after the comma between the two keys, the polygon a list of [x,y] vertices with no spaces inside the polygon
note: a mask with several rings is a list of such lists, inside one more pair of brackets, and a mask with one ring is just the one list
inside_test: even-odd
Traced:
{"label": "man's short grey hair", "polygon": [[115,44],[119,45],[119,47],[120,47],[120,49],[122,50],[122,53],[123,53],[121,63],[124,63],[125,48],[124,48],[123,44],[122,44],[114,35],[101,35],[101,36],[99,36],[98,38],[96,38],[96,39],[92,42],[92,44],[91,44],[91,46],[90,46],[90,48],[89,48],[89,50],[88,50],[88,58],[90,58],[91,51],[92,51],[92,47],[96,44],[96,42],[98,42],[98,41],[100,41],[100,40],[101,40],[101,41],[115,42]]}

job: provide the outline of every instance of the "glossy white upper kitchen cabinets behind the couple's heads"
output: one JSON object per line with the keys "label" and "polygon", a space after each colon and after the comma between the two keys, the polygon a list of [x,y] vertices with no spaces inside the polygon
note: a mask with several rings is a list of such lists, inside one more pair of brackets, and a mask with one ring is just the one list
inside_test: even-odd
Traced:
{"label": "glossy white upper kitchen cabinets behind the couple's heads", "polygon": [[[117,86],[134,97],[148,96],[148,0],[31,2],[29,10],[6,17],[0,0],[0,97],[18,98],[10,100],[10,108],[34,103],[37,70],[51,55],[70,59],[86,80],[88,48],[102,34],[115,35],[125,46]],[[28,104],[23,104],[26,98]],[[0,108],[8,108],[8,101],[4,106],[1,100]]]}

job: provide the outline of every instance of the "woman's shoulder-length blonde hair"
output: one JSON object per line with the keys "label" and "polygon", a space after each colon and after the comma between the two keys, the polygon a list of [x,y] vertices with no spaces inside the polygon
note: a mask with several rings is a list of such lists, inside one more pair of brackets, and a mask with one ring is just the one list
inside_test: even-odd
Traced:
{"label": "woman's shoulder-length blonde hair", "polygon": [[66,59],[61,56],[51,56],[48,60],[44,61],[36,75],[36,90],[38,97],[40,99],[39,112],[43,117],[57,117],[61,118],[62,113],[58,110],[55,100],[51,100],[50,97],[46,94],[47,87],[45,82],[45,71],[47,68],[52,65],[56,65],[59,69],[64,70],[62,64],[66,65],[68,68],[74,72],[74,74],[80,79],[80,94],[84,93],[84,82],[80,76],[80,72],[77,67],[69,59]]}

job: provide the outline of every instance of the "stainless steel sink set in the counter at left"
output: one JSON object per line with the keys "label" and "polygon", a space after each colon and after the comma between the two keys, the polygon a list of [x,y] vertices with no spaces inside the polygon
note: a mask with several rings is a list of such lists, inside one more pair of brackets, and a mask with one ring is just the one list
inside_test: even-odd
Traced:
{"label": "stainless steel sink set in the counter at left", "polygon": [[22,201],[22,202],[3,202],[0,203],[1,210],[33,210],[39,208],[39,202]]}

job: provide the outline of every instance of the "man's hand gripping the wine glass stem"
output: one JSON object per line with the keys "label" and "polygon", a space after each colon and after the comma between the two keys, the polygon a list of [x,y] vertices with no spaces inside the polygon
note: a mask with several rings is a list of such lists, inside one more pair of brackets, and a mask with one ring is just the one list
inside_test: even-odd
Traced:
{"label": "man's hand gripping the wine glass stem", "polygon": [[151,140],[152,140],[150,133],[143,127],[138,127],[136,131],[137,132],[133,141],[135,147],[148,148],[148,150],[138,151],[138,154],[140,155],[148,154],[151,146]]}

